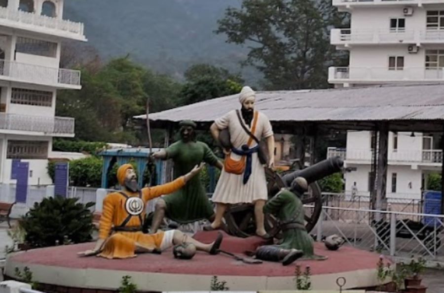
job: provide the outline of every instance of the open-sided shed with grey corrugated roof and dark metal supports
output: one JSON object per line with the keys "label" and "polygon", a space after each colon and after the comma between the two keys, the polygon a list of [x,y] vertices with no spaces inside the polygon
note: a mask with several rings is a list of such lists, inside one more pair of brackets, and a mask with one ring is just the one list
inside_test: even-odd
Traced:
{"label": "open-sided shed with grey corrugated roof and dark metal supports", "polygon": [[[231,95],[152,113],[149,120],[151,127],[167,130],[168,145],[169,133],[181,120],[193,120],[198,129],[208,130],[215,119],[237,108],[237,95]],[[312,146],[320,130],[374,131],[371,197],[376,209],[386,204],[388,132],[444,131],[444,85],[257,92],[256,108],[268,116],[276,133],[310,136]],[[135,118],[146,119],[146,115]],[[441,206],[443,213],[444,200]]]}

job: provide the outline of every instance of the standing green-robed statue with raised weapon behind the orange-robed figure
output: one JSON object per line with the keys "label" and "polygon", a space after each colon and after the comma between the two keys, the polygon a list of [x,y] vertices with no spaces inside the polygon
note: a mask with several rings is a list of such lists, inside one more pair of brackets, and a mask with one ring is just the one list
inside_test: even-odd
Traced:
{"label": "standing green-robed statue with raised weapon behind the orange-robed figure", "polygon": [[[184,120],[180,124],[181,140],[173,143],[165,150],[153,155],[155,159],[174,162],[174,178],[178,178],[191,170],[195,165],[208,163],[222,168],[223,165],[211,151],[208,145],[195,139],[196,124],[190,120]],[[206,195],[199,174],[193,177],[179,191],[159,198],[155,205],[154,217],[151,225],[151,233],[155,233],[162,220],[167,218],[181,223],[214,218],[213,205]]]}

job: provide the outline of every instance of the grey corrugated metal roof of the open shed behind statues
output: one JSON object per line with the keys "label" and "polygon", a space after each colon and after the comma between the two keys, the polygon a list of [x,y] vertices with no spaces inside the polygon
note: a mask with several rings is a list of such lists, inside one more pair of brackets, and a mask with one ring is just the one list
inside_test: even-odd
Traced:
{"label": "grey corrugated metal roof of the open shed behind statues", "polygon": [[[152,113],[149,119],[211,122],[239,107],[232,95]],[[256,109],[274,122],[444,120],[444,85],[257,92]]]}

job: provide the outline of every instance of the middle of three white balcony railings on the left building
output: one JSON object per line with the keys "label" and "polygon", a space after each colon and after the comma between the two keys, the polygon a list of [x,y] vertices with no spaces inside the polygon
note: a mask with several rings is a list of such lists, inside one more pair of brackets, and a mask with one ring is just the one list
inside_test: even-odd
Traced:
{"label": "middle of three white balcony railings on the left building", "polygon": [[1,75],[18,81],[51,86],[80,86],[80,71],[0,60]]}

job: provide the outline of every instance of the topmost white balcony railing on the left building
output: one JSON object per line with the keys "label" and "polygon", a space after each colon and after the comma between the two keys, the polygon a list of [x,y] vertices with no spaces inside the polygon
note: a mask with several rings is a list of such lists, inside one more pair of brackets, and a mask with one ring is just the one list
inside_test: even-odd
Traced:
{"label": "topmost white balcony railing on the left building", "polygon": [[0,7],[0,23],[8,20],[18,24],[34,25],[37,27],[58,30],[61,32],[73,33],[79,38],[84,38],[83,24],[69,20],[38,15],[20,10],[13,10],[7,7]]}

